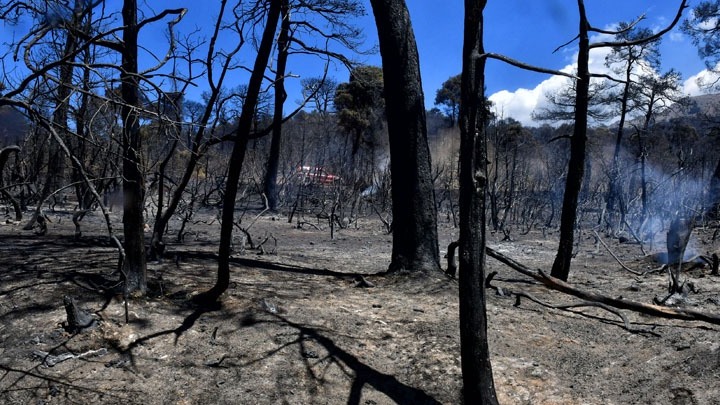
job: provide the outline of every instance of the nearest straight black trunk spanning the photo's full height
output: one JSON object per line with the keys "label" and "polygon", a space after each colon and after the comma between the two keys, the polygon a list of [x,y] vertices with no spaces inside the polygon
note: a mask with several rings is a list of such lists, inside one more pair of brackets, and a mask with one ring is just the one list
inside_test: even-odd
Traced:
{"label": "nearest straight black trunk spanning the photo's full height", "polygon": [[466,404],[497,404],[487,339],[485,227],[487,109],[485,108],[485,0],[465,0],[460,95],[460,355]]}

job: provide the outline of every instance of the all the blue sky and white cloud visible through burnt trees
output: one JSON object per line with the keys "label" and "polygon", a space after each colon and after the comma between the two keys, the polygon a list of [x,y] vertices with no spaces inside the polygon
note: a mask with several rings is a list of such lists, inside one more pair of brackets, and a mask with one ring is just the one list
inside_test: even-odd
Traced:
{"label": "all the blue sky and white cloud visible through burnt trees", "polygon": [[[365,33],[365,48],[377,44],[377,35],[369,0],[362,0],[368,15],[358,18],[356,24]],[[141,2],[140,7],[146,15],[159,12],[164,8],[186,7],[187,15],[177,27],[183,35],[193,33],[194,38],[210,36],[218,10],[215,0],[155,0]],[[620,21],[634,20],[645,14],[642,26],[658,29],[665,26],[675,15],[679,0],[586,0],[588,18],[595,27],[609,28]],[[435,92],[449,77],[461,69],[463,1],[407,0],[413,27],[420,52],[423,88],[427,108],[433,107]],[[692,6],[693,3],[691,3]],[[119,12],[119,0],[107,0],[108,9]],[[685,11],[685,16],[690,10]],[[684,17],[685,17],[684,16]],[[683,18],[684,18],[683,17]],[[578,26],[577,2],[575,0],[488,0],[485,11],[485,48],[489,52],[507,55],[523,62],[550,69],[572,69],[575,63],[576,44],[564,47],[558,52],[553,50],[575,37]],[[156,53],[164,53],[164,23],[156,23],[145,31],[141,43]],[[3,27],[4,35],[22,35],[27,26]],[[15,31],[14,33],[12,31]],[[226,48],[232,47],[235,38],[222,42]],[[250,47],[246,47],[248,51]],[[679,29],[674,29],[663,39],[662,70],[675,68],[683,74],[685,87],[689,94],[699,93],[695,84],[696,76],[703,74],[705,65],[698,57],[697,50],[690,39]],[[202,51],[206,52],[206,51]],[[603,66],[603,51],[591,55],[591,68],[595,72],[606,71]],[[354,55],[354,59],[372,65],[380,65],[379,54]],[[250,66],[253,52],[241,56],[242,62]],[[152,64],[148,58],[146,65]],[[145,67],[147,67],[145,66]],[[142,69],[142,66],[141,66]],[[300,98],[300,78],[319,76],[322,63],[317,58],[292,56],[289,72],[297,78],[288,82],[288,106],[296,106]],[[329,75],[338,82],[347,81],[349,73],[342,66],[333,66]],[[242,84],[247,75],[242,72],[233,74],[229,87]],[[532,111],[545,103],[545,93],[565,85],[563,79],[547,75],[524,72],[498,61],[489,61],[486,70],[487,94],[493,100],[499,113],[532,125]],[[188,98],[200,100],[207,90],[202,81],[191,89]]]}

